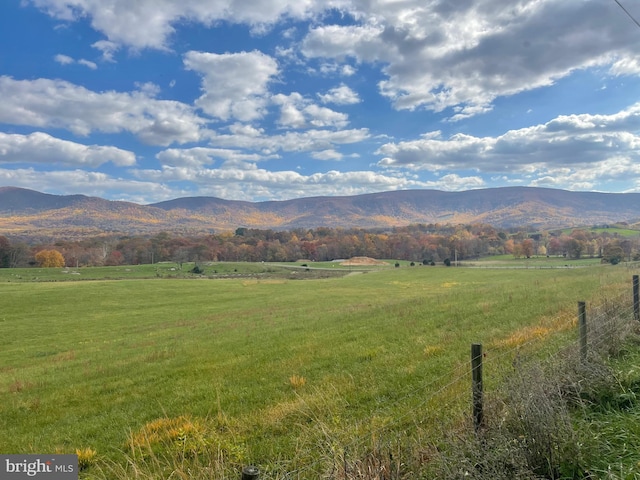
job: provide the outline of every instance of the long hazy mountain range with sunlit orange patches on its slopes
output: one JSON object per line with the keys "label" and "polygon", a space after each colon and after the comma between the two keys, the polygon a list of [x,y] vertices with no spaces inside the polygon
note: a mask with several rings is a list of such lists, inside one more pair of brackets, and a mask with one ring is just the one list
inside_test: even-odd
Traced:
{"label": "long hazy mountain range with sunlit orange patches on its slopes", "polygon": [[0,234],[78,238],[103,233],[189,234],[239,227],[389,228],[416,223],[488,223],[538,229],[640,219],[640,193],[505,187],[462,192],[403,190],[343,197],[245,202],[185,197],[150,205],[0,187]]}

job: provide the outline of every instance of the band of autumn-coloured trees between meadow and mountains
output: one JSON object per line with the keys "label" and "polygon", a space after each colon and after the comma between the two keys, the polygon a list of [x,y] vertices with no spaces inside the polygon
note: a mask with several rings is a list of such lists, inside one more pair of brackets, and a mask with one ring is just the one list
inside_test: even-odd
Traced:
{"label": "band of autumn-coloured trees between meadow and mountains", "polygon": [[356,256],[447,263],[501,254],[599,257],[609,263],[640,260],[640,231],[635,236],[622,236],[615,228],[531,232],[487,224],[417,224],[387,230],[238,228],[235,232],[198,236],[169,232],[153,236],[105,234],[36,243],[0,235],[0,267],[330,261]]}

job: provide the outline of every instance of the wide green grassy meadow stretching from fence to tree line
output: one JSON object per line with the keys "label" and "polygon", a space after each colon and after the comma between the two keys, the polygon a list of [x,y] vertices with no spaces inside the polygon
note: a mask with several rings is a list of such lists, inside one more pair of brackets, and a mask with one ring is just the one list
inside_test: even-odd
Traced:
{"label": "wide green grassy meadow stretching from fence to tree line", "polygon": [[173,268],[0,271],[0,452],[95,452],[82,478],[185,452],[267,478],[319,478],[393,439],[426,455],[468,422],[471,343],[491,389],[519,349],[576,338],[577,301],[630,291],[637,273]]}

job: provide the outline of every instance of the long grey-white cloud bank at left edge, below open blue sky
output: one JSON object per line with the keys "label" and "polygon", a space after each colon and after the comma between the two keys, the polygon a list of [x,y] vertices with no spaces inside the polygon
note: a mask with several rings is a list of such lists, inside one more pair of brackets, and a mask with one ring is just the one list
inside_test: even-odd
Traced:
{"label": "long grey-white cloud bank at left edge, below open blue sky", "polygon": [[156,100],[145,92],[101,92],[62,80],[0,77],[0,122],[93,131],[131,132],[151,145],[196,141],[205,121],[180,102]]}

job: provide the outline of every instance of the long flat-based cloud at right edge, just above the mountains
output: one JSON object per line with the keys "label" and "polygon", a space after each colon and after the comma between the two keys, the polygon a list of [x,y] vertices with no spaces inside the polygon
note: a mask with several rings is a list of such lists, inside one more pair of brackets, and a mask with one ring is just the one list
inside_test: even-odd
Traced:
{"label": "long flat-based cloud at right edge, just above the mountains", "polygon": [[430,132],[387,143],[382,167],[524,174],[532,185],[592,188],[596,180],[640,174],[640,103],[611,115],[563,115],[497,137]]}

